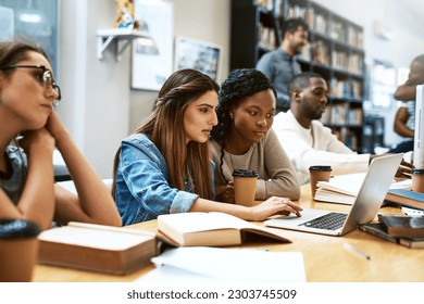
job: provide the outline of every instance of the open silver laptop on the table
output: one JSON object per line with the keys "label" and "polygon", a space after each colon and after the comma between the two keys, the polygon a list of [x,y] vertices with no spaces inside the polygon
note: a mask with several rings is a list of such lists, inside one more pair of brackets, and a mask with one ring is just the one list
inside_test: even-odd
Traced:
{"label": "open silver laptop on the table", "polygon": [[303,208],[302,216],[282,216],[264,221],[265,226],[313,232],[327,236],[344,236],[360,224],[372,221],[378,213],[403,153],[379,156],[371,162],[365,179],[349,213]]}

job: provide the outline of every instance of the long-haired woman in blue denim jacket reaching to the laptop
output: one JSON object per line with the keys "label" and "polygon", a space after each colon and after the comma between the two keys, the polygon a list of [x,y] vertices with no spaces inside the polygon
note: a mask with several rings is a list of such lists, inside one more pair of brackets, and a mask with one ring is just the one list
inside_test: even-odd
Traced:
{"label": "long-haired woman in blue denim jacket reaching to the laptop", "polygon": [[282,198],[252,207],[214,199],[209,136],[217,124],[219,85],[195,69],[175,72],[147,121],[115,155],[112,194],[123,225],[180,212],[224,212],[248,220],[301,208]]}

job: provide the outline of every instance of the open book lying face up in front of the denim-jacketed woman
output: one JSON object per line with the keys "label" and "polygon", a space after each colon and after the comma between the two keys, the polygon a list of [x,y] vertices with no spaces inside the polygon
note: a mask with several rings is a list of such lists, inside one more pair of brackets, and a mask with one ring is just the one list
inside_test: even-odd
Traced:
{"label": "open book lying face up in front of the denim-jacketed woman", "polygon": [[289,243],[275,231],[233,215],[190,212],[158,216],[159,237],[176,246],[239,245],[249,238],[262,237]]}

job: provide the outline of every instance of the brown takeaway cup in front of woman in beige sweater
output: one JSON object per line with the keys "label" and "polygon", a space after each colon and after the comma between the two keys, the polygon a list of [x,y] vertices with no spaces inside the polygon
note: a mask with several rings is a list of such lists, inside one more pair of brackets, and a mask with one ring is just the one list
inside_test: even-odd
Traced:
{"label": "brown takeaway cup in front of woman in beige sweater", "polygon": [[233,172],[234,194],[237,205],[253,206],[257,192],[258,172],[235,169]]}

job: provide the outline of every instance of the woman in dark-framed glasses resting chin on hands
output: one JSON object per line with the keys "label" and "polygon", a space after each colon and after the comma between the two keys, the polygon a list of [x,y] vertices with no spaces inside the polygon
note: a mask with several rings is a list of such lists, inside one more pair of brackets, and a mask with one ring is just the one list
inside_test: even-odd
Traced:
{"label": "woman in dark-framed glasses resting chin on hands", "polygon": [[[52,220],[121,226],[113,198],[54,111],[60,99],[40,48],[0,42],[0,219],[33,220],[41,229]],[[54,148],[78,195],[54,185]]]}

